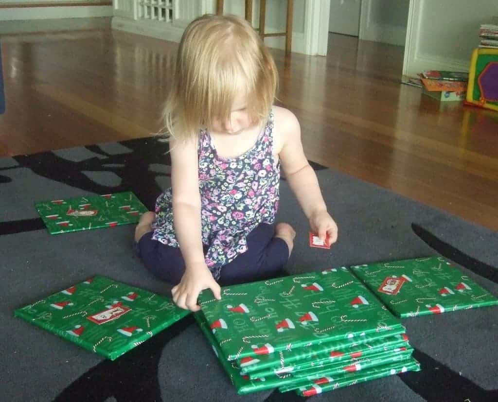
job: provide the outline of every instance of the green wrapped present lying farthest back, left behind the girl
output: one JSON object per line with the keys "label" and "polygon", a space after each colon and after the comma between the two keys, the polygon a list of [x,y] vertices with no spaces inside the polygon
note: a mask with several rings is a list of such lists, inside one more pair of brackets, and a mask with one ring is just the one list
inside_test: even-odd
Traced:
{"label": "green wrapped present lying farthest back, left behind the girl", "polygon": [[50,234],[136,223],[147,208],[131,192],[35,203]]}

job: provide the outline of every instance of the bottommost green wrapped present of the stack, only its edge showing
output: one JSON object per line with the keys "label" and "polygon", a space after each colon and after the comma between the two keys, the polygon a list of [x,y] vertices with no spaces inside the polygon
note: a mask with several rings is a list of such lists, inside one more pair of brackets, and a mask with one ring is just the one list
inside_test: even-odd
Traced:
{"label": "bottommost green wrapped present of the stack, only its edge showing", "polygon": [[[410,357],[406,361],[401,361],[395,364],[387,364],[384,366],[377,366],[362,371],[361,373],[346,373],[332,377],[322,377],[310,382],[307,386],[300,387],[296,390],[297,395],[302,397],[311,397],[313,395],[321,394],[327,391],[333,391],[338,388],[349,387],[363,383],[366,381],[375,380],[378,378],[388,377],[395,374],[405,373],[407,371],[420,371],[420,363],[414,358]],[[280,392],[292,391],[293,386],[282,386],[279,388]]]}

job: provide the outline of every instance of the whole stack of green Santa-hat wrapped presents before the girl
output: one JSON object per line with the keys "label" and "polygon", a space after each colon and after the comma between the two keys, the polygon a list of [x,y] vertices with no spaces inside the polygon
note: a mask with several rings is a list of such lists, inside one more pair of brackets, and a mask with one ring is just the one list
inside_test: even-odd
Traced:
{"label": "whole stack of green Santa-hat wrapped presents before the girl", "polygon": [[347,268],[222,288],[195,314],[239,394],[312,396],[420,370],[405,328]]}

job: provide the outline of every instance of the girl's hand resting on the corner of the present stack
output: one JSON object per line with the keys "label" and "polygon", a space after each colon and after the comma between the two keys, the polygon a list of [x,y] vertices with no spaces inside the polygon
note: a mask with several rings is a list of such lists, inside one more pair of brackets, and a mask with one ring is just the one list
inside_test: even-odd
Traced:
{"label": "girl's hand resting on the corner of the present stack", "polygon": [[182,280],[171,289],[171,294],[178,307],[199,311],[201,306],[197,304],[197,298],[202,290],[208,288],[213,291],[216,299],[221,299],[220,285],[214,280],[213,275],[203,262],[186,267]]}

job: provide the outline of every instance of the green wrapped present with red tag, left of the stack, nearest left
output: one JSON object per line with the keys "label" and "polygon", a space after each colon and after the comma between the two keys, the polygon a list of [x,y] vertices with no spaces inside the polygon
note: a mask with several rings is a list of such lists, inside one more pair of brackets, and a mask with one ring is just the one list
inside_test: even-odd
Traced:
{"label": "green wrapped present with red tag, left of the stack, nearest left", "polygon": [[14,311],[14,316],[111,360],[187,314],[169,299],[102,276]]}

